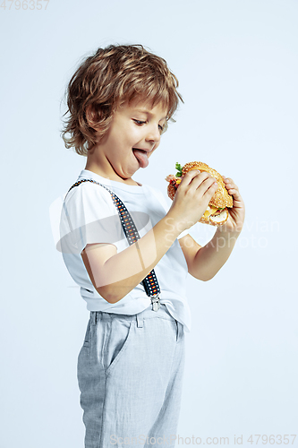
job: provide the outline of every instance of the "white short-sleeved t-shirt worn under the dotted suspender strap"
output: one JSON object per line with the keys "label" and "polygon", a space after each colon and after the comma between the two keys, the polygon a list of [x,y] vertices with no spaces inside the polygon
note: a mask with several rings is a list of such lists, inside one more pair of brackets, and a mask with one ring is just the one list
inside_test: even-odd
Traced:
{"label": "white short-sleeved t-shirt worn under the dotted suspender strap", "polygon": [[[88,169],[81,170],[77,181],[81,179],[93,179],[115,193],[131,213],[140,237],[164,218],[168,211],[163,194],[149,185],[125,185],[98,176]],[[188,232],[183,231],[179,238]],[[81,251],[87,244],[113,244],[117,248],[117,253],[129,247],[118,211],[106,188],[91,182],[83,182],[64,196],[60,238],[59,250],[63,254],[64,263],[72,279],[81,287],[81,297],[86,300],[89,311],[137,314],[151,306],[141,283],[115,304],[107,302],[94,288],[81,259]],[[183,323],[185,331],[190,332],[191,313],[185,297],[188,268],[178,239],[160,259],[154,271],[161,290],[160,302],[166,305],[169,313],[177,321]]]}

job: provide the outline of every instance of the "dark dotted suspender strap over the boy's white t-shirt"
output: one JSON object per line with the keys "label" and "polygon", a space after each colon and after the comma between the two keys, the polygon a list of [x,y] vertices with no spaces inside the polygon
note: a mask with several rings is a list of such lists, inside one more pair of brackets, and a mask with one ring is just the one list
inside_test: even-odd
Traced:
{"label": "dark dotted suspender strap over the boy's white t-shirt", "polygon": [[[121,220],[124,235],[127,238],[129,245],[132,246],[133,243],[136,243],[136,245],[138,245],[137,240],[140,239],[140,235],[139,235],[138,229],[136,228],[136,226],[132,220],[132,216],[131,216],[130,212],[126,209],[126,207],[123,204],[123,202],[121,201],[121,199],[119,199],[118,196],[115,195],[115,193],[113,193],[111,190],[109,190],[106,187],[106,185],[99,184],[99,182],[96,182],[93,179],[82,179],[79,182],[76,182],[75,184],[73,184],[66,194],[68,194],[72,190],[72,188],[80,185],[82,182],[92,182],[93,184],[98,184],[98,185],[106,188],[106,190],[112,196],[112,200],[115,204],[115,207],[118,211],[118,214],[119,214],[119,217]],[[65,194],[65,197],[66,197],[66,194]],[[137,248],[139,248],[139,247],[137,246]],[[145,277],[145,279],[142,280],[140,282],[140,284],[143,285],[147,296],[149,296],[151,299],[153,311],[158,311],[158,309],[160,308],[160,297],[159,297],[160,288],[159,288],[158,279],[157,279],[154,269],[152,269],[152,271],[149,272],[147,277]]]}

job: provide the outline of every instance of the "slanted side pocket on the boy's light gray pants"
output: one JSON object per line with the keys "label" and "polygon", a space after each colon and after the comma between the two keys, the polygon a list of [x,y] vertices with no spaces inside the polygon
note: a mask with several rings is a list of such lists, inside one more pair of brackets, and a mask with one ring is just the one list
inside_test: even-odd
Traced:
{"label": "slanted side pocket on the boy's light gray pants", "polygon": [[109,332],[104,350],[106,375],[109,375],[123,357],[132,335],[131,320],[115,317],[109,322]]}

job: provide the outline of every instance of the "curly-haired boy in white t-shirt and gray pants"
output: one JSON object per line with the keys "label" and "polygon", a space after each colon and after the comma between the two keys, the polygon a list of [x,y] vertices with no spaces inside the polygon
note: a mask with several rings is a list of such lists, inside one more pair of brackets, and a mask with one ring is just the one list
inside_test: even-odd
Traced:
{"label": "curly-haired boy in white t-shirt and gray pants", "polygon": [[[86,448],[175,445],[184,330],[191,323],[186,274],[214,277],[243,227],[244,204],[232,179],[225,182],[234,208],[204,247],[187,229],[217,190],[209,173],[183,177],[168,211],[157,189],[132,179],[174,121],[182,100],[177,87],[166,61],[140,45],[98,48],[68,86],[65,146],[87,156],[61,218],[64,262],[90,311],[78,358]],[[123,236],[113,194],[135,221],[133,244]],[[142,281],[152,270],[160,294],[149,297]]]}

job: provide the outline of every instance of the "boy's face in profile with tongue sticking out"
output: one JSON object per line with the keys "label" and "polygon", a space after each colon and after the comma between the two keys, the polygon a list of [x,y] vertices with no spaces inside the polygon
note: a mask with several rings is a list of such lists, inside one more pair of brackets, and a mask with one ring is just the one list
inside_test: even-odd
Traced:
{"label": "boy's face in profile with tongue sticking out", "polygon": [[133,101],[118,108],[95,153],[102,176],[129,179],[139,168],[146,168],[149,157],[158,148],[166,115],[161,104],[152,108],[148,101]]}

